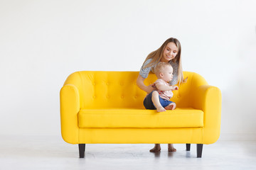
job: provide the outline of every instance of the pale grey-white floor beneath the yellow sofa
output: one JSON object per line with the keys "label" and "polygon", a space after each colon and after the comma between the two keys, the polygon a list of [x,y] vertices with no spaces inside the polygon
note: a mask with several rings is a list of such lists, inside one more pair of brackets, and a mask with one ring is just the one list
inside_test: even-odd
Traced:
{"label": "pale grey-white floor beneath the yellow sofa", "polygon": [[78,145],[61,137],[0,136],[0,169],[256,169],[256,141],[218,140],[203,145],[196,158],[196,145],[176,144],[177,152],[161,145],[158,154],[152,144],[86,145],[85,159],[78,158]]}

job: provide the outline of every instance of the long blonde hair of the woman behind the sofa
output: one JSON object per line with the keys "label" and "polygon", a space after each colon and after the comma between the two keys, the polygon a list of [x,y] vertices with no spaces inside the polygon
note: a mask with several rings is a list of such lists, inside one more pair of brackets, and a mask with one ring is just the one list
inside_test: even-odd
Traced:
{"label": "long blonde hair of the woman behind the sofa", "polygon": [[[181,64],[181,43],[176,39],[176,38],[169,38],[167,39],[163,45],[161,45],[161,47],[159,47],[159,49],[155,50],[154,52],[151,52],[147,57],[146,60],[152,59],[151,62],[149,62],[149,64],[146,64],[143,68],[147,68],[147,67],[154,67],[154,65],[156,63],[159,63],[161,58],[163,57],[164,54],[164,49],[166,48],[166,45],[169,42],[174,42],[174,44],[178,47],[178,54],[176,55],[176,57],[171,60],[171,62],[178,62],[178,86],[181,85],[181,83],[185,83],[186,79],[183,78],[183,72],[182,72],[182,64]],[[146,60],[144,61],[144,63],[146,62]],[[143,64],[144,64],[143,63]]]}

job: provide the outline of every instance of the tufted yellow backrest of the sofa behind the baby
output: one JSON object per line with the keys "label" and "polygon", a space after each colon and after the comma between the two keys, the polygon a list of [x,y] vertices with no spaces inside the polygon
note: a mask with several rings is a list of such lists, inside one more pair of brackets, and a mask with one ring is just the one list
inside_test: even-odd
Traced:
{"label": "tufted yellow backrest of the sofa behind the baby", "polygon": [[[139,72],[82,71],[70,74],[65,84],[78,87],[80,108],[144,108],[146,92],[136,84],[138,75]],[[180,108],[191,107],[191,89],[201,84],[196,79],[203,79],[193,72],[183,72],[183,77],[188,77],[188,81],[171,98]],[[144,83],[149,85],[154,81],[156,76],[150,73]]]}

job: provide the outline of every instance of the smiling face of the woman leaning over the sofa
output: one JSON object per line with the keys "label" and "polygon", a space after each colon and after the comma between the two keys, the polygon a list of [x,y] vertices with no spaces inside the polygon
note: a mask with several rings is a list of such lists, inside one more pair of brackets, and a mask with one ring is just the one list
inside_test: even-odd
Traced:
{"label": "smiling face of the woman leaning over the sofa", "polygon": [[169,62],[173,60],[177,54],[178,54],[178,47],[174,42],[169,42],[164,49],[161,62]]}

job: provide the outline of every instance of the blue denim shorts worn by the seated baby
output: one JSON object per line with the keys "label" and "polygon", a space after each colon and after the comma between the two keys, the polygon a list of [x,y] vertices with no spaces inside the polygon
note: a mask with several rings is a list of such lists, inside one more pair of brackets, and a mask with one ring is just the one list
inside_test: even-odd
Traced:
{"label": "blue denim shorts worn by the seated baby", "polygon": [[[146,98],[144,98],[143,104],[146,109],[156,110],[156,107],[154,106],[154,103],[152,101],[152,93],[153,91],[150,94],[148,94]],[[174,103],[173,101],[167,101],[166,99],[161,98],[160,96],[159,96],[159,101],[161,103],[161,106],[163,106],[163,108],[165,108],[166,106],[169,106],[169,104],[171,103]]]}

